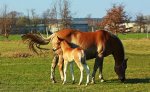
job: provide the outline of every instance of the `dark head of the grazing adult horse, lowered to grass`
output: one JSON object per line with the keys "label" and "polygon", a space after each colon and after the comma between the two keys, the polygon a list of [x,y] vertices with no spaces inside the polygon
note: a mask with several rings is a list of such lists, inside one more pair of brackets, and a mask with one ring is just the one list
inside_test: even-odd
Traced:
{"label": "dark head of the grazing adult horse, lowered to grass", "polygon": [[121,65],[115,66],[115,72],[118,75],[119,79],[124,82],[125,78],[125,72],[127,68],[127,60],[125,59]]}

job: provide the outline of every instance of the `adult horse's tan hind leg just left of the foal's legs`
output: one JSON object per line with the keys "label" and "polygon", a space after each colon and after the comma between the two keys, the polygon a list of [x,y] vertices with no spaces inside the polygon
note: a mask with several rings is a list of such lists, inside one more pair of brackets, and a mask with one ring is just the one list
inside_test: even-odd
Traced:
{"label": "adult horse's tan hind leg just left of the foal's legs", "polygon": [[59,67],[60,77],[62,81],[64,80],[63,63],[64,63],[63,56],[59,55],[58,67]]}

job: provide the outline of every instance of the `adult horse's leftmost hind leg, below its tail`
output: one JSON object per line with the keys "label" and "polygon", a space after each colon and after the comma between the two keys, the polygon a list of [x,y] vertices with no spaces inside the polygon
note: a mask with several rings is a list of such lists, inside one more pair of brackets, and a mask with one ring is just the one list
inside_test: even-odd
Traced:
{"label": "adult horse's leftmost hind leg, below its tail", "polygon": [[51,64],[51,75],[50,75],[50,78],[52,80],[52,83],[55,83],[55,68],[56,68],[56,65],[58,63],[58,56],[55,55],[53,60],[52,60],[52,64]]}

